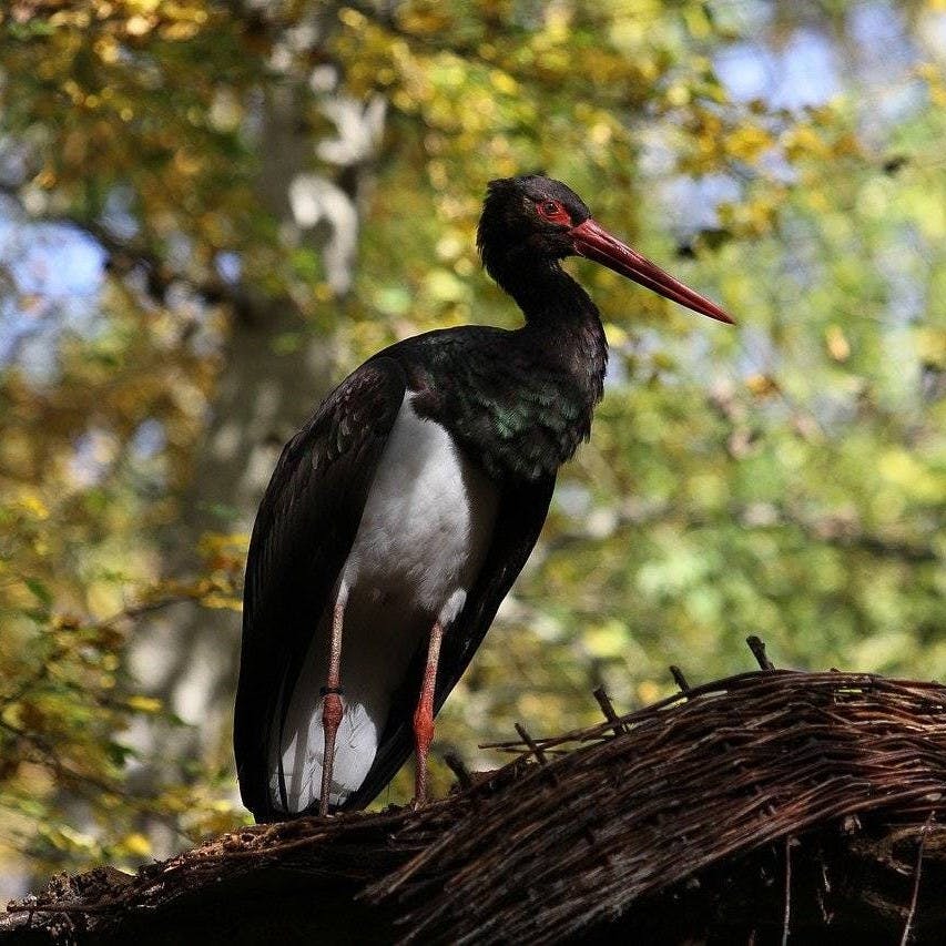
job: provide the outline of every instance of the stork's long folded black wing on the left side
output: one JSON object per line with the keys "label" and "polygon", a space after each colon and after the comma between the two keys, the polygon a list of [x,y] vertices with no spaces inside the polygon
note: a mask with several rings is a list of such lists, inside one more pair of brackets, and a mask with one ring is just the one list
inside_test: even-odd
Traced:
{"label": "stork's long folded black wing on the left side", "polygon": [[243,593],[234,751],[243,803],[257,821],[269,797],[269,745],[335,588],[407,379],[393,358],[349,375],[286,445],[263,497]]}

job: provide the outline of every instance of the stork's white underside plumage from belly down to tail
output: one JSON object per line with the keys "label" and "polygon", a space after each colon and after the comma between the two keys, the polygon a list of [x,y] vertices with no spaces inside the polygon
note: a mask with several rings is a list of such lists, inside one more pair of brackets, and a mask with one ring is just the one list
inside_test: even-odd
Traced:
{"label": "stork's white underside plumage from belly down to tail", "polygon": [[[408,393],[390,433],[339,579],[347,596],[342,638],[344,716],[329,804],[368,774],[390,700],[435,620],[449,634],[479,573],[496,520],[492,482],[444,427],[419,417]],[[269,791],[289,812],[318,800],[324,760],[319,688],[327,673],[332,603],[317,622],[289,702],[282,746],[272,746]],[[316,630],[314,628],[314,630]],[[277,739],[277,738],[276,738]]]}

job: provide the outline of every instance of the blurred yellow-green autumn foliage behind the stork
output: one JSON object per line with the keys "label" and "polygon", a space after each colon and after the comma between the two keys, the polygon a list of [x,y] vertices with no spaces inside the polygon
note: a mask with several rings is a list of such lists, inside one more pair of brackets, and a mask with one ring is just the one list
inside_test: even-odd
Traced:
{"label": "blurred yellow-green autumn foliage behind the stork", "polygon": [[[208,536],[174,580],[155,538],[194,476],[233,319],[251,294],[291,301],[299,337],[339,353],[336,379],[418,330],[515,324],[474,231],[485,182],[536,167],[740,325],[574,264],[612,344],[606,400],[441,747],[469,757],[513,719],[587,722],[600,682],[621,710],[653,700],[669,663],[744,669],[749,633],[782,664],[946,674],[942,2],[388,8],[0,12],[0,187],[26,214],[0,253],[0,845],[135,862],[145,811],[191,834],[240,816],[227,733],[185,784],[135,791],[131,734],[174,721],[123,660],[144,610],[238,600],[245,536]],[[872,22],[897,51],[883,85]],[[815,40],[833,65],[812,101],[733,84]],[[260,103],[288,87],[332,174],[327,63],[388,109],[344,305],[256,187]],[[35,271],[77,246],[108,257],[101,282],[50,289]]]}

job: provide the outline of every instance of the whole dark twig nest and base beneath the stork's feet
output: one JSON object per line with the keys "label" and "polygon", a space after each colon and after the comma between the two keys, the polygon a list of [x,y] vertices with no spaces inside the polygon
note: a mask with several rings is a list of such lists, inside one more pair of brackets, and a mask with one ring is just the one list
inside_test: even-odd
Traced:
{"label": "whole dark twig nest and base beneath the stork's feet", "polygon": [[[621,924],[673,942],[673,914],[688,904],[704,911],[703,935],[720,923],[786,935],[803,916],[838,929],[845,911],[875,928],[899,924],[905,937],[943,920],[935,899],[924,912],[920,876],[924,856],[928,885],[946,876],[935,821],[946,688],[836,671],[763,670],[693,689],[678,680],[685,689],[622,716],[599,694],[606,719],[589,729],[533,740],[520,728],[500,746],[515,753],[509,765],[488,777],[460,771],[465,787],[418,812],[247,828],[116,884],[60,881],[12,904],[21,919],[7,929],[29,912],[34,932],[68,917],[79,939],[128,936],[142,917],[166,934],[162,911],[176,911],[193,930],[211,897],[207,928],[234,942],[220,904],[240,915],[236,892],[247,889],[289,901],[304,891],[306,935],[327,922],[326,896],[313,906],[313,893],[330,891],[333,923],[354,917],[375,924],[373,938],[425,944],[559,942]],[[238,929],[272,932],[257,919]]]}

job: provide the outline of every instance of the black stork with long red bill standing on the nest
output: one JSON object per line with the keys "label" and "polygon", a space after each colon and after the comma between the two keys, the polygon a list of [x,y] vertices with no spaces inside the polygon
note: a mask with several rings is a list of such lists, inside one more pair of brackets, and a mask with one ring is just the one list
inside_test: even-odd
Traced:
{"label": "black stork with long red bill standing on the nest", "polygon": [[489,184],[477,244],[526,324],[428,332],[369,358],[286,445],[263,498],[234,728],[257,821],[364,807],[411,749],[425,801],[434,716],[603,391],[598,309],[561,261],[594,260],[732,322],[543,176]]}

